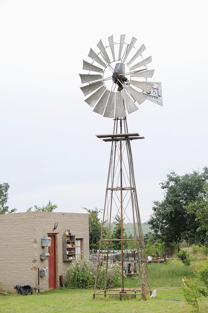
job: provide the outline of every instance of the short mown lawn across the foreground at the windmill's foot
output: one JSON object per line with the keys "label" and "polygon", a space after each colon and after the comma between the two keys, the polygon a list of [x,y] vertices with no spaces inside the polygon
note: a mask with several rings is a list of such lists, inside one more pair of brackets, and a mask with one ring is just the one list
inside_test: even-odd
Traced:
{"label": "short mown lawn across the foreground at the windmill's foot", "polygon": [[[148,295],[146,301],[137,299],[104,298],[93,300],[93,290],[64,289],[42,292],[39,295],[0,296],[0,312],[144,312],[144,313],[189,313],[191,307],[185,301],[165,301],[164,299],[184,300],[180,288],[157,289],[155,299]],[[208,312],[208,299],[200,302],[199,312]]]}

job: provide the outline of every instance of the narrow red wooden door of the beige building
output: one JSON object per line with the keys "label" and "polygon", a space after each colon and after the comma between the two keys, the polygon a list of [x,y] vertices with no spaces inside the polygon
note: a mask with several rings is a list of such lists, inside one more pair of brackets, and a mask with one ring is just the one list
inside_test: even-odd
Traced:
{"label": "narrow red wooden door of the beige building", "polygon": [[48,259],[48,288],[56,288],[56,235],[48,235],[51,238],[51,246],[48,247],[50,254]]}

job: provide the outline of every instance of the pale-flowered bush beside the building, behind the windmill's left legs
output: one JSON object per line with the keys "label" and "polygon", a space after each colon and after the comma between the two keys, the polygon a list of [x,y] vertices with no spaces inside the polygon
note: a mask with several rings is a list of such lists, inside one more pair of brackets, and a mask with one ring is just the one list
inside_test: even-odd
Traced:
{"label": "pale-flowered bush beside the building, behind the windmill's left legs", "polygon": [[[112,288],[121,281],[121,267],[118,264],[109,264],[107,270],[106,288]],[[103,289],[105,284],[106,262],[99,267],[97,288]],[[89,260],[75,262],[67,269],[64,284],[67,288],[85,289],[94,288],[96,266]]]}

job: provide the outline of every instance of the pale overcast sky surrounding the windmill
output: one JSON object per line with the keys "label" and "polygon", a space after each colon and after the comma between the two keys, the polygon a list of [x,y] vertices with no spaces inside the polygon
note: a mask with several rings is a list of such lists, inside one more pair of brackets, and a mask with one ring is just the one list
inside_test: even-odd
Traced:
{"label": "pale overcast sky surrounding the windmill", "polygon": [[[141,220],[169,170],[182,175],[207,162],[207,9],[205,1],[0,1],[0,183],[9,207],[48,203],[58,211],[102,208],[113,120],[92,112],[79,89],[82,60],[113,33],[137,38],[152,55],[150,101],[128,115]],[[88,203],[88,204],[87,204]]]}

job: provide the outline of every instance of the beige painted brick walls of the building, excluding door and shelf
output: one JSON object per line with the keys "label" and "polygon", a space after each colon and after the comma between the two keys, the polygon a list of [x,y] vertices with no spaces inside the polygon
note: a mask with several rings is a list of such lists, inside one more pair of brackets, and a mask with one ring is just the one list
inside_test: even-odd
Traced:
{"label": "beige painted brick walls of the building, excluding door and shelf", "polygon": [[[58,227],[53,231],[54,224]],[[57,287],[59,275],[65,274],[73,261],[63,262],[62,236],[70,229],[75,238],[83,238],[83,254],[89,258],[88,214],[56,212],[24,212],[0,215],[0,282],[5,289],[15,285],[38,284],[38,270],[48,266],[48,260],[40,260],[41,238],[48,233],[57,234],[56,269]],[[48,276],[40,277],[40,286],[48,289]]]}

